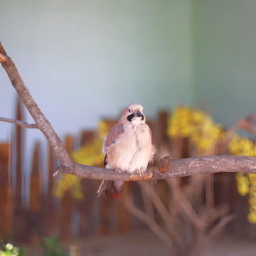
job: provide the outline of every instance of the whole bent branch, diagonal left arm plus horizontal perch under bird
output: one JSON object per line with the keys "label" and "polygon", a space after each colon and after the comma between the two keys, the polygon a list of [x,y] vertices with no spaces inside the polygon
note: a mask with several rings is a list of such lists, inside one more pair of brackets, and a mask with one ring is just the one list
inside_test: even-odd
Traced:
{"label": "whole bent branch, diagonal left arm plus horizontal perch under bird", "polygon": [[192,176],[195,174],[208,174],[217,172],[246,172],[256,174],[256,158],[250,156],[198,156],[190,159],[171,161],[170,157],[161,159],[158,166],[148,168],[142,177],[138,174],[116,173],[113,169],[103,169],[75,163],[65,150],[63,142],[55,133],[53,127],[33,100],[28,88],[24,84],[13,61],[6,54],[0,42],[1,65],[6,70],[11,84],[14,86],[23,104],[36,122],[36,127],[43,132],[61,166],[56,169],[58,173],[73,174],[84,178],[107,179],[110,181],[139,181],[158,180],[171,177]]}

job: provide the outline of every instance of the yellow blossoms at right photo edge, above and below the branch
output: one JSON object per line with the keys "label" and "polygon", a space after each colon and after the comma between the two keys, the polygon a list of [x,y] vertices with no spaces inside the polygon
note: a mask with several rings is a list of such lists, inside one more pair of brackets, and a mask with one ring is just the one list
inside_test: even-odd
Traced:
{"label": "yellow blossoms at right photo edge, above and below the branch", "polygon": [[[256,157],[256,144],[247,137],[240,137],[234,133],[228,147],[230,154]],[[249,196],[250,212],[247,218],[251,223],[256,223],[256,174],[238,173],[235,179],[238,193],[242,196]]]}

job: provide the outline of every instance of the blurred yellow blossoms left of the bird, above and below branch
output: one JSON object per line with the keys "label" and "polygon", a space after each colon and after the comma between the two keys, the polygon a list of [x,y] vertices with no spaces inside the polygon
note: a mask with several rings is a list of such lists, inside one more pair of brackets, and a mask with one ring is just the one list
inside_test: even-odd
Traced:
{"label": "blurred yellow blossoms left of the bird, above and below branch", "polygon": [[[92,141],[80,149],[73,151],[72,159],[79,163],[90,166],[99,166],[103,163],[102,145],[108,134],[108,127],[105,122],[100,122],[97,128],[97,136]],[[83,193],[80,185],[81,177],[70,174],[63,174],[55,183],[53,194],[58,198],[63,198],[65,191],[70,191],[73,198],[83,199]]]}

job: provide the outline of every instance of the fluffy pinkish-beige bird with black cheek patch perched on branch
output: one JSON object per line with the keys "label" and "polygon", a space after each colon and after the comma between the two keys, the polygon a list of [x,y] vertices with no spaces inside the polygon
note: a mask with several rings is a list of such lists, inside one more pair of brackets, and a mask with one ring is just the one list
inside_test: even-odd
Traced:
{"label": "fluffy pinkish-beige bird with black cheek patch perched on branch", "polygon": [[[110,129],[103,143],[104,164],[117,172],[134,171],[142,176],[154,159],[151,129],[146,124],[142,105],[132,103],[122,113],[119,121]],[[122,192],[123,181],[102,181],[98,196]]]}

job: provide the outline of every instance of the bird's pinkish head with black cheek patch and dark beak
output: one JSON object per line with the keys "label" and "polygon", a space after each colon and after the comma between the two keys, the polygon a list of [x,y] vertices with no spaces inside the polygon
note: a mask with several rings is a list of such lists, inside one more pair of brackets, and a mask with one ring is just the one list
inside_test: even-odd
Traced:
{"label": "bird's pinkish head with black cheek patch and dark beak", "polygon": [[132,124],[142,124],[146,122],[143,114],[143,107],[138,103],[132,103],[122,113],[122,122]]}

